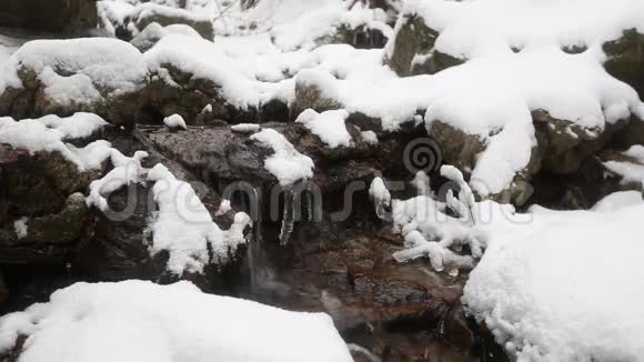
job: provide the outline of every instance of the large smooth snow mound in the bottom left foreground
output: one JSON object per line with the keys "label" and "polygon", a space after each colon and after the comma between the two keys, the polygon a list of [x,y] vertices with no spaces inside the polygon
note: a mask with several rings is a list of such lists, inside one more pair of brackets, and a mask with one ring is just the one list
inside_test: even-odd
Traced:
{"label": "large smooth snow mound in the bottom left foreground", "polygon": [[0,353],[21,334],[21,362],[353,361],[326,314],[205,294],[190,282],[77,283],[2,316]]}

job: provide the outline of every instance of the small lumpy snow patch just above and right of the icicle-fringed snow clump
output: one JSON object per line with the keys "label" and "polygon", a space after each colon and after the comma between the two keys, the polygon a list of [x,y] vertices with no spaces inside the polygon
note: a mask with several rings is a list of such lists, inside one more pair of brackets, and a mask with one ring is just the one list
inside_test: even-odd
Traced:
{"label": "small lumpy snow patch just above and right of the icicle-fringed snow clump", "polygon": [[312,109],[308,109],[300,113],[295,123],[304,124],[322,142],[334,149],[339,145],[350,147],[352,143],[351,134],[349,134],[344,124],[348,118],[349,112],[345,110],[318,113]]}

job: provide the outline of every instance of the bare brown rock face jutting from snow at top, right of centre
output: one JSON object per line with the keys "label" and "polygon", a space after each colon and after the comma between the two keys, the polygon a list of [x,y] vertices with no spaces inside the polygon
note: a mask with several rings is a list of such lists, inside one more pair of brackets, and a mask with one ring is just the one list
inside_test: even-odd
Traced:
{"label": "bare brown rock face jutting from snow at top, right of centre", "polygon": [[398,21],[385,48],[384,62],[400,77],[434,74],[464,62],[434,48],[439,32],[420,14],[403,13]]}

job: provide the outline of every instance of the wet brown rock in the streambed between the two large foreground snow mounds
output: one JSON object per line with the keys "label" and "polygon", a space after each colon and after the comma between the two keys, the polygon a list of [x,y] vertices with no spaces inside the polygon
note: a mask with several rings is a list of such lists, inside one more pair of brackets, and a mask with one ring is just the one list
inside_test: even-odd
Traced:
{"label": "wet brown rock in the streambed between the two large foreground snow mounds", "polygon": [[364,349],[356,361],[370,361],[368,354],[382,361],[481,358],[479,331],[460,306],[465,274],[435,273],[422,261],[394,262],[391,254],[402,240],[379,225],[316,234],[305,229],[295,230],[290,251],[269,258],[272,272],[248,296],[329,313],[348,343]]}

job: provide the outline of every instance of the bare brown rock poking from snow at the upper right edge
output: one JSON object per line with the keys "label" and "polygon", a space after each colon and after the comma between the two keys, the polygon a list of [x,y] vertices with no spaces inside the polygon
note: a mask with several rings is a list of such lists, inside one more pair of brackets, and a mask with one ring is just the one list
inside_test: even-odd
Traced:
{"label": "bare brown rock poking from snow at the upper right edge", "polygon": [[622,37],[603,46],[604,68],[611,76],[628,83],[644,95],[644,34],[636,29],[624,30]]}

